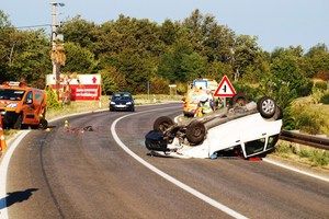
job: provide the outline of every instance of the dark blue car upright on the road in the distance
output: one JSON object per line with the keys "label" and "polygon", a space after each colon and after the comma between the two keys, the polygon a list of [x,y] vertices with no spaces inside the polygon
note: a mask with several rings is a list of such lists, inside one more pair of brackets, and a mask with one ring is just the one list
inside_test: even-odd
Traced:
{"label": "dark blue car upright on the road in the distance", "polygon": [[110,111],[135,112],[135,103],[129,92],[116,92],[110,99]]}

